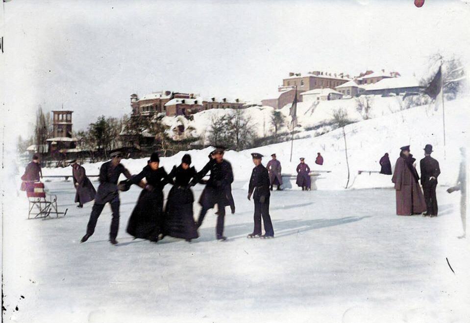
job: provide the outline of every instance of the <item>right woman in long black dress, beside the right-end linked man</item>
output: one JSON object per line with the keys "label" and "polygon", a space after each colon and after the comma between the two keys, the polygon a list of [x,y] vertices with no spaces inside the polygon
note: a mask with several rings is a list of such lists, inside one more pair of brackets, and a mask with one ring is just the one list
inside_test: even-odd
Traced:
{"label": "right woman in long black dress, beside the right-end linked man", "polygon": [[191,167],[191,156],[188,154],[183,156],[178,167],[173,166],[169,177],[172,180],[174,178],[174,184],[168,194],[165,209],[165,235],[186,241],[198,238],[193,217],[194,195],[189,188],[189,182],[196,174],[196,169]]}

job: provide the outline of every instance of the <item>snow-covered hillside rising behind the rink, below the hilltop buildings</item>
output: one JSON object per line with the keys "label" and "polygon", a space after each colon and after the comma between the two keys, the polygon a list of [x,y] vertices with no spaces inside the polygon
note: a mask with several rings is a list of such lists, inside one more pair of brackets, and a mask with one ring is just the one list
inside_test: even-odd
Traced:
{"label": "snow-covered hillside rising behind the rink, below the hilltop buildings", "polygon": [[[382,105],[377,105],[376,113],[384,113],[391,106],[396,98],[381,98]],[[387,100],[385,100],[387,99]],[[342,103],[346,100],[337,100]],[[323,105],[324,103],[324,105]],[[319,109],[318,120],[326,117],[328,105],[337,104],[337,102],[323,102]],[[446,102],[446,159],[444,159],[443,150],[443,131],[442,131],[442,109],[438,107],[436,111],[434,105],[420,106],[393,114],[379,116],[374,119],[360,121],[346,126],[346,140],[348,148],[348,160],[350,167],[350,181],[348,188],[377,188],[391,187],[390,176],[369,173],[358,175],[358,170],[379,170],[378,161],[384,153],[390,154],[392,166],[398,158],[399,147],[411,145],[412,154],[417,158],[417,168],[419,169],[419,160],[423,157],[422,148],[425,144],[431,143],[434,146],[433,156],[441,163],[442,175],[440,184],[447,185],[455,181],[460,161],[459,147],[468,141],[467,123],[469,98],[461,98],[454,101]],[[305,103],[299,104],[299,115],[305,113],[308,108]],[[323,107],[325,107],[323,109]],[[378,108],[380,107],[380,108]],[[352,105],[344,108],[348,111],[355,109]],[[269,108],[251,108],[253,113],[259,113],[258,116],[268,114]],[[287,108],[284,108],[287,109]],[[284,110],[283,109],[283,110]],[[322,112],[324,110],[324,112]],[[255,112],[256,111],[256,112]],[[381,112],[379,112],[381,111]],[[390,111],[390,110],[389,110]],[[195,117],[195,123],[203,125],[203,115],[211,115],[215,113],[224,113],[224,110],[209,110],[201,112],[202,115]],[[320,113],[321,112],[321,113]],[[314,113],[315,114],[315,113]],[[357,115],[356,115],[357,117]],[[313,117],[311,117],[313,119]],[[300,122],[305,122],[308,118],[300,118]],[[205,122],[208,122],[206,119]],[[305,132],[305,135],[314,135],[315,131]],[[248,180],[249,174],[253,167],[251,162],[251,152],[259,152],[266,156],[263,160],[264,164],[270,159],[272,153],[276,153],[278,160],[282,163],[283,173],[295,173],[298,159],[304,157],[306,162],[313,170],[330,170],[331,173],[322,174],[317,181],[318,189],[342,189],[346,185],[346,158],[345,158],[345,142],[342,136],[342,130],[337,129],[327,134],[317,137],[309,137],[294,140],[294,153],[292,162],[289,162],[291,150],[290,142],[282,142],[253,148],[245,151],[235,152],[228,151],[225,158],[232,162],[234,175],[236,180]],[[193,156],[193,163],[197,169],[207,161],[207,155],[211,148],[204,150],[193,150],[189,153]],[[314,163],[317,152],[324,157],[322,166]],[[171,169],[174,164],[179,164],[181,157],[186,152],[162,158],[161,165],[167,170]],[[101,162],[84,165],[87,174],[98,174]],[[132,173],[136,173],[146,165],[146,159],[141,160],[123,160],[123,164],[129,168]],[[70,168],[52,168],[44,169],[44,175],[69,174]]]}

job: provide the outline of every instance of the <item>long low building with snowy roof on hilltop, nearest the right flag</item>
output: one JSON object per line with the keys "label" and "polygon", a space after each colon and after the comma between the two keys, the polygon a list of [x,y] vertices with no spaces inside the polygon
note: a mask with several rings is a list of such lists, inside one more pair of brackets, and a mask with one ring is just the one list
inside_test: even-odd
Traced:
{"label": "long low building with snowy roof on hilltop, nearest the right flag", "polygon": [[387,78],[373,84],[363,85],[364,94],[386,95],[394,93],[420,92],[423,88],[420,82],[414,77]]}

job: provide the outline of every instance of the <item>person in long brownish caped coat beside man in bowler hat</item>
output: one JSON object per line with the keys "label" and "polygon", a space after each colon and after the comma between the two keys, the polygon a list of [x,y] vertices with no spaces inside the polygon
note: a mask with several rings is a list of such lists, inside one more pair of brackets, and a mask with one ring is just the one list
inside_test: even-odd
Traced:
{"label": "person in long brownish caped coat beside man in bowler hat", "polygon": [[396,214],[413,215],[426,211],[426,203],[418,183],[420,176],[415,168],[416,159],[410,154],[410,146],[400,148],[392,182],[396,191]]}

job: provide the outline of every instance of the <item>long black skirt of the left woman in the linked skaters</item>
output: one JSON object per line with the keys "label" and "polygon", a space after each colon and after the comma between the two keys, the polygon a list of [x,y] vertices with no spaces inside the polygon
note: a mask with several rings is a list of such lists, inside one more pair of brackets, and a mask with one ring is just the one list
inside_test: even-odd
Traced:
{"label": "long black skirt of the left woman in the linked skaters", "polygon": [[143,189],[129,217],[127,233],[135,238],[156,241],[163,232],[163,192]]}

